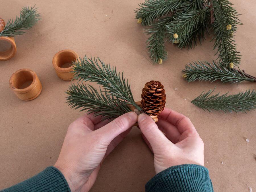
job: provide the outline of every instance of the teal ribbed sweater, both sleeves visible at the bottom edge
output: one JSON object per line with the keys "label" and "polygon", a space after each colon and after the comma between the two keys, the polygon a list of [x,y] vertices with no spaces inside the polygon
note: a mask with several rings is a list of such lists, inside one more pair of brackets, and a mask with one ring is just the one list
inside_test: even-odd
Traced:
{"label": "teal ribbed sweater, both sleeves visible at the bottom edge", "polygon": [[[48,167],[36,176],[2,191],[70,191],[70,189],[61,172],[55,167]],[[146,191],[213,191],[213,188],[207,168],[184,164],[156,174],[146,183]]]}

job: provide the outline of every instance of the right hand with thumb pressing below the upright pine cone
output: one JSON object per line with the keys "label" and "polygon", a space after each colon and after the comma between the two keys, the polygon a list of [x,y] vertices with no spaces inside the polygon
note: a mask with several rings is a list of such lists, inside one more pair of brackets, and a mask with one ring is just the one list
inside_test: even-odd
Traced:
{"label": "right hand with thumb pressing below the upright pine cone", "polygon": [[164,109],[157,123],[148,115],[140,114],[138,124],[143,139],[154,153],[156,174],[175,165],[204,166],[204,143],[188,117]]}

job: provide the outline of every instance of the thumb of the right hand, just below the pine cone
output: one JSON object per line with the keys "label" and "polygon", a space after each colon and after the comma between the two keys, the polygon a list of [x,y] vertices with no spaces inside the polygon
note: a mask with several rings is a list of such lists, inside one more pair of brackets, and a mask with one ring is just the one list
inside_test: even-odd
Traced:
{"label": "thumb of the right hand, just below the pine cone", "polygon": [[138,116],[138,124],[141,132],[152,146],[153,152],[154,150],[157,150],[159,145],[170,143],[150,116],[144,113],[140,114]]}

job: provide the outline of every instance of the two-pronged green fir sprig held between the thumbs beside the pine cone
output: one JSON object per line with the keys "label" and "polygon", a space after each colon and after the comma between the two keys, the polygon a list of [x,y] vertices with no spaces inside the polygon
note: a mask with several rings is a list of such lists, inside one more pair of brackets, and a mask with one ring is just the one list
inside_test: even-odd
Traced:
{"label": "two-pronged green fir sprig held between the thumbs beside the pine cone", "polygon": [[85,56],[73,62],[73,66],[75,79],[96,82],[102,88],[98,91],[83,83],[71,84],[66,93],[67,102],[72,108],[82,108],[109,120],[130,112],[127,104],[132,104],[138,111],[143,112],[133,99],[128,80],[110,64],[105,64],[100,58]]}

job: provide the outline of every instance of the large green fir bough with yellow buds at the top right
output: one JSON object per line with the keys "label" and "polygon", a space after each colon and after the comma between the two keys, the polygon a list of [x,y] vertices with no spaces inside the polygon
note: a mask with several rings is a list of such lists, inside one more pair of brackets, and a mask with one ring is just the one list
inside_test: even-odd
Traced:
{"label": "large green fir bough with yellow buds at the top right", "polygon": [[[231,62],[240,64],[233,36],[241,22],[228,0],[145,0],[135,14],[143,26],[148,26],[147,48],[154,63],[166,60],[166,41],[178,48],[193,48],[212,29],[220,65],[229,68]],[[227,25],[231,26],[228,30]]]}

